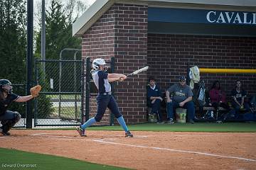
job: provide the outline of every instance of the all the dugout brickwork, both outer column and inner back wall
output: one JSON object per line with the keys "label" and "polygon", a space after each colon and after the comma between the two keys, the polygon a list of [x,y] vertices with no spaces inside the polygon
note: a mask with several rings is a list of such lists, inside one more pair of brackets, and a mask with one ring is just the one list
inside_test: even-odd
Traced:
{"label": "all the dugout brickwork, both outer column and inner back wall", "polygon": [[[82,35],[82,57],[115,58],[116,73],[129,74],[149,65],[148,72],[114,84],[114,96],[127,123],[146,121],[146,81],[154,76],[165,90],[186,75],[187,64],[204,68],[256,67],[256,39],[200,35],[147,34],[147,6],[114,4]],[[210,88],[220,80],[230,94],[234,81],[256,94],[255,74],[201,74]],[[96,113],[95,97],[90,98],[90,117]],[[102,124],[109,123],[109,112]],[[115,122],[117,123],[117,122]]]}

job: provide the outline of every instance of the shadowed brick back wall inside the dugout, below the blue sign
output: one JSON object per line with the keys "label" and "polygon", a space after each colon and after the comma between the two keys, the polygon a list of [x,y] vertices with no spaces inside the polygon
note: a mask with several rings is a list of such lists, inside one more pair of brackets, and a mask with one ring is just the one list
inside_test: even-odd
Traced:
{"label": "shadowed brick back wall inside the dugout, below the blue sign", "polygon": [[[148,35],[149,75],[154,75],[161,89],[178,82],[186,75],[186,67],[201,68],[256,68],[256,38],[200,36],[200,35]],[[242,80],[243,88],[256,94],[255,74],[201,74],[210,89],[219,80],[222,89],[230,94],[235,80]]]}

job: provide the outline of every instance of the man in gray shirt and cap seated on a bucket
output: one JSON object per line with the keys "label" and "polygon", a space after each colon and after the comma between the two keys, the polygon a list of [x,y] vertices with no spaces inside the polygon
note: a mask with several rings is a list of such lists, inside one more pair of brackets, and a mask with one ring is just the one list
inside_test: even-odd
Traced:
{"label": "man in gray shirt and cap seated on a bucket", "polygon": [[186,85],[186,78],[181,76],[179,84],[174,84],[166,91],[167,101],[167,121],[174,122],[174,109],[186,108],[188,113],[188,122],[194,123],[195,106],[192,101],[193,92],[190,86]]}

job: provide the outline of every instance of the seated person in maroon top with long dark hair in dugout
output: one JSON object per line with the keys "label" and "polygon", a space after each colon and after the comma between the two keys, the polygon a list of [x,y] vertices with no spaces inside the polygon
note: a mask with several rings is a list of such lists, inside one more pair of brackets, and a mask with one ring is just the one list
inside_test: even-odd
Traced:
{"label": "seated person in maroon top with long dark hair in dugout", "polygon": [[220,81],[214,81],[213,86],[209,91],[210,96],[210,106],[215,108],[215,111],[218,110],[219,107],[225,108],[226,110],[229,109],[225,92],[220,89]]}

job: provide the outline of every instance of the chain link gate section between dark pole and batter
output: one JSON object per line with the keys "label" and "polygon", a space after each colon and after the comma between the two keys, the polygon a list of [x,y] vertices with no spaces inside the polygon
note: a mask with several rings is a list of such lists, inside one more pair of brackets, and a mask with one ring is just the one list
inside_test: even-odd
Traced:
{"label": "chain link gate section between dark pole and batter", "polygon": [[34,103],[34,126],[80,125],[81,60],[36,60],[36,84],[42,91]]}

